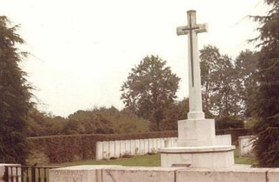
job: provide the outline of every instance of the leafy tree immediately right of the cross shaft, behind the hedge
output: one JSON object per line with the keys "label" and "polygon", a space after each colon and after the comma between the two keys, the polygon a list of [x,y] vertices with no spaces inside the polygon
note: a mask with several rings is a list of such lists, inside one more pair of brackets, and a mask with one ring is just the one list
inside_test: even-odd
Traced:
{"label": "leafy tree immediately right of the cross shaft, behind the hedge", "polygon": [[232,60],[218,48],[206,46],[200,51],[203,106],[206,117],[236,117],[240,106],[236,99],[235,70]]}

